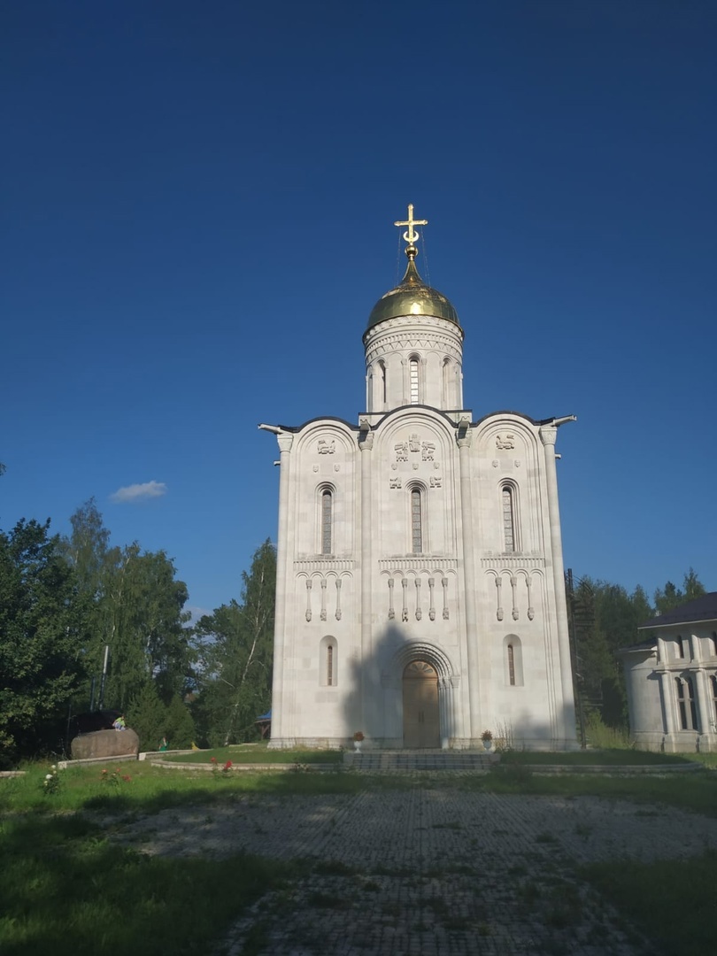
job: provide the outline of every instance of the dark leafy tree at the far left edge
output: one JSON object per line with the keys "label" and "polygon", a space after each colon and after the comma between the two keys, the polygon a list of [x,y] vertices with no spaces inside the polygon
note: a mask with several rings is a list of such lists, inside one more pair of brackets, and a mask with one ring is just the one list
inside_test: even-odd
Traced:
{"label": "dark leafy tree at the far left edge", "polygon": [[86,605],[50,522],[0,532],[0,746],[56,748],[65,707],[84,678]]}

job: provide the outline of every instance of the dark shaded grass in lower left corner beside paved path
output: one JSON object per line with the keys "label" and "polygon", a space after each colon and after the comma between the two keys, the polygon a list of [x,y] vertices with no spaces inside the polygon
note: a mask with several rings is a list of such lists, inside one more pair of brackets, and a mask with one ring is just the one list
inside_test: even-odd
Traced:
{"label": "dark shaded grass in lower left corner beside paved path", "polygon": [[3,956],[210,952],[234,916],[298,869],[148,857],[76,815],[8,817],[0,846]]}

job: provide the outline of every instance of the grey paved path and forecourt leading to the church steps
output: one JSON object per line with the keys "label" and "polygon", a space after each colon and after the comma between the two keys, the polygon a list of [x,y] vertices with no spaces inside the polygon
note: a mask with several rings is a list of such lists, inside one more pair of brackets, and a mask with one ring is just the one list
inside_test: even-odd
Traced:
{"label": "grey paved path and forecourt leading to the church steps", "polygon": [[677,859],[717,847],[717,820],[594,797],[430,786],[249,796],[120,827],[150,854],[309,860],[218,952],[318,956],[654,952],[579,864]]}

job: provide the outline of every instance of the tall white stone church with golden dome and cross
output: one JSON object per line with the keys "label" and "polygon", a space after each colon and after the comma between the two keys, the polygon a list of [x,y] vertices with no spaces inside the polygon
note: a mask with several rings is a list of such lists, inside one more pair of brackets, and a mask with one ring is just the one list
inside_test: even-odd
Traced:
{"label": "tall white stone church with golden dome and cross", "polygon": [[576,747],[555,473],[573,416],[474,418],[464,330],[416,267],[368,317],[366,411],[280,450],[274,748]]}

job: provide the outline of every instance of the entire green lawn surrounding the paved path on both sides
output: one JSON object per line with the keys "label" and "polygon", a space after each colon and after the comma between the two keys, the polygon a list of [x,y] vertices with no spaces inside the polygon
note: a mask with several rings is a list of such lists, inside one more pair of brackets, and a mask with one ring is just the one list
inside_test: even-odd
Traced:
{"label": "entire green lawn surrounding the paved path on both sides", "polygon": [[[215,752],[217,760],[225,751]],[[235,749],[228,759],[240,762]],[[317,752],[317,751],[313,751]],[[634,753],[630,751],[634,757]],[[192,756],[197,756],[193,754]],[[207,759],[207,752],[201,754]],[[534,756],[534,754],[532,755]],[[678,758],[679,759],[679,758]],[[308,761],[300,761],[306,765]],[[717,815],[717,773],[659,777],[541,777],[518,762],[488,775],[241,771],[208,773],[144,762],[70,768],[57,793],[43,791],[47,765],[0,780],[0,952],[3,956],[97,956],[216,951],[228,926],[272,889],[291,886],[318,865],[237,854],[224,860],[159,858],[108,837],[114,814],[152,815],[166,808],[231,804],[262,795],[359,793],[365,789],[476,788],[497,793],[594,795],[666,804]],[[106,772],[102,772],[102,771]],[[459,797],[460,798],[460,797]],[[105,817],[77,811],[99,811]],[[615,903],[626,924],[641,925],[671,956],[714,949],[717,857],[641,864],[590,865],[579,875]],[[679,919],[675,914],[679,913]],[[260,949],[256,950],[257,952]]]}

